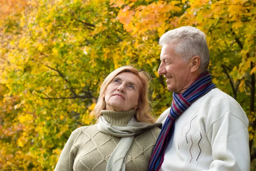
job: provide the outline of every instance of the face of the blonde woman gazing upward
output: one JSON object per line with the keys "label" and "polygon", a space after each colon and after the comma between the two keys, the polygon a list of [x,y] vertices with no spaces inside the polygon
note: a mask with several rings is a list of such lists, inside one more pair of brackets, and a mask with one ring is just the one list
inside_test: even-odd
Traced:
{"label": "face of the blonde woman gazing upward", "polygon": [[111,81],[104,93],[107,110],[137,110],[142,83],[131,72],[122,72]]}

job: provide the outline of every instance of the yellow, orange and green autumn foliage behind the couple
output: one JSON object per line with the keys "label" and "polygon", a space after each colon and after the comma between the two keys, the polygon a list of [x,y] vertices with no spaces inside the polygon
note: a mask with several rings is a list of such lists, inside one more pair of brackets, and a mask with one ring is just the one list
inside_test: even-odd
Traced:
{"label": "yellow, orange and green autumn foliage behind the couple", "polygon": [[99,87],[117,67],[150,72],[160,115],[172,94],[157,75],[157,41],[186,25],[205,32],[213,82],[250,120],[255,170],[255,18],[256,0],[0,0],[0,170],[53,170],[70,133],[95,122]]}

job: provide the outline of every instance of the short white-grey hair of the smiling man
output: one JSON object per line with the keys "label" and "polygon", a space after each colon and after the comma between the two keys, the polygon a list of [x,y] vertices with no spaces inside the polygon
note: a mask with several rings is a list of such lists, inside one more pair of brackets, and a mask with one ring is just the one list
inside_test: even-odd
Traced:
{"label": "short white-grey hair of the smiling man", "polygon": [[183,26],[170,30],[163,34],[159,44],[175,44],[175,55],[179,56],[184,62],[188,62],[193,56],[198,55],[201,58],[199,70],[201,72],[208,69],[210,62],[209,48],[207,46],[204,32],[192,27]]}

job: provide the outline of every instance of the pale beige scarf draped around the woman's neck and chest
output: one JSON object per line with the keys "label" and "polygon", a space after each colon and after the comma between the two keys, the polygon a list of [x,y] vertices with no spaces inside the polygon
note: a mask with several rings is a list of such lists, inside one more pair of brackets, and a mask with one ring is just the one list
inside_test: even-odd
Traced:
{"label": "pale beige scarf draped around the woman's neck and chest", "polygon": [[126,127],[111,126],[103,116],[100,116],[99,123],[97,124],[97,128],[100,132],[122,137],[108,159],[106,171],[125,171],[126,156],[130,151],[134,136],[145,133],[150,128],[160,127],[161,125],[162,123],[151,124],[148,122],[138,122],[137,119],[133,117]]}

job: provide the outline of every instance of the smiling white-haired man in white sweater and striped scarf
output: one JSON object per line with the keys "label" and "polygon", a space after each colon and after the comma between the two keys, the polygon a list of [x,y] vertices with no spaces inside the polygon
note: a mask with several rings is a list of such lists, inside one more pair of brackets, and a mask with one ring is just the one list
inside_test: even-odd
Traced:
{"label": "smiling white-haired man in white sweater and striped scarf", "polygon": [[159,43],[158,74],[173,100],[157,120],[163,128],[148,171],[249,171],[248,119],[212,83],[204,33],[184,26],[166,32]]}

